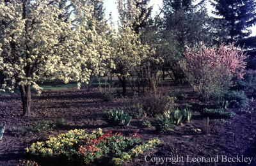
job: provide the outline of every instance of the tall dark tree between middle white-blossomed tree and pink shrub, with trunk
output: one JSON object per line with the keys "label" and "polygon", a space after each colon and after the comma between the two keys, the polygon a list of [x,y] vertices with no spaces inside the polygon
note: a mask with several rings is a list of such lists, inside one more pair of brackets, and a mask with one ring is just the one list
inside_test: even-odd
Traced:
{"label": "tall dark tree between middle white-blossomed tree and pink shrub, with trunk", "polygon": [[[205,1],[195,0],[163,0],[163,43],[166,47],[164,70],[177,83],[184,78],[179,67],[185,47],[204,41],[211,43],[209,38],[210,19],[205,8]],[[171,50],[170,50],[171,49]],[[163,70],[163,71],[164,71]]]}

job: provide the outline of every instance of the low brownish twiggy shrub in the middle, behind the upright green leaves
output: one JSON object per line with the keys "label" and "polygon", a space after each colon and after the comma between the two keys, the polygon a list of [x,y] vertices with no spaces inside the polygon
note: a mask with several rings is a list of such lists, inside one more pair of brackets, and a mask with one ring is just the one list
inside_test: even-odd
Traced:
{"label": "low brownish twiggy shrub in the middle, behind the upright green leaves", "polygon": [[175,98],[163,95],[161,93],[147,93],[143,98],[143,109],[147,116],[156,116],[166,110],[173,109]]}

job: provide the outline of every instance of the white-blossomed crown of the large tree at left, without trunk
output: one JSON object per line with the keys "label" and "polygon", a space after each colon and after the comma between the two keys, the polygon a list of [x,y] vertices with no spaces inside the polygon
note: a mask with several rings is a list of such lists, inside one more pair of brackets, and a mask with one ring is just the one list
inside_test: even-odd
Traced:
{"label": "white-blossomed crown of the large tree at left, without trunk", "polygon": [[[62,3],[62,5],[60,5]],[[103,75],[112,48],[104,33],[95,31],[90,1],[71,1],[76,15],[60,18],[66,1],[0,1],[0,71],[5,75],[3,89],[16,85],[35,87],[45,79],[88,82],[91,75]],[[74,20],[78,23],[74,24]],[[88,21],[92,26],[88,26]],[[110,64],[108,63],[110,62]]]}

